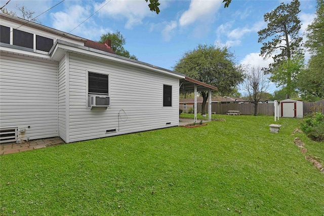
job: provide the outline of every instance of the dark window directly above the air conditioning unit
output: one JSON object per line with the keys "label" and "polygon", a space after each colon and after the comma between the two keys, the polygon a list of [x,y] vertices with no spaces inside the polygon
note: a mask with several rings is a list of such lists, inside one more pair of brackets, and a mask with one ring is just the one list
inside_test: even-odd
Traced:
{"label": "dark window directly above the air conditioning unit", "polygon": [[108,95],[108,75],[89,72],[89,94]]}

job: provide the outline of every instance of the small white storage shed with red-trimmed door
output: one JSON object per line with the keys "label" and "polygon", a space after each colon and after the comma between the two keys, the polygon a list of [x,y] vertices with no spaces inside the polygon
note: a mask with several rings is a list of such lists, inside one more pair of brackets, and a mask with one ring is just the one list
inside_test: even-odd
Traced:
{"label": "small white storage shed with red-trimmed door", "polygon": [[281,113],[281,117],[302,118],[303,102],[292,99],[280,101],[279,113]]}

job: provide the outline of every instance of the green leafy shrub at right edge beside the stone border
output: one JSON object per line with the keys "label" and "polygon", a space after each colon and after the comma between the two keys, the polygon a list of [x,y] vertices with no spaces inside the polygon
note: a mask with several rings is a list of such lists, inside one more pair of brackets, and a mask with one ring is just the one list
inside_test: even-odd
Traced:
{"label": "green leafy shrub at right edge beside the stone border", "polygon": [[324,114],[314,113],[300,123],[302,131],[311,139],[316,141],[324,140]]}

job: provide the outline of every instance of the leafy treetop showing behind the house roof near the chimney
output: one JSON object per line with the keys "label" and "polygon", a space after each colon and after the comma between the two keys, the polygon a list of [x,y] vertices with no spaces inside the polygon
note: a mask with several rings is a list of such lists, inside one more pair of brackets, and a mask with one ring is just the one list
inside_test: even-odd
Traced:
{"label": "leafy treetop showing behind the house roof near the chimney", "polygon": [[106,39],[111,39],[111,49],[116,55],[138,60],[136,56],[131,55],[129,51],[125,50],[124,45],[126,44],[126,38],[120,33],[120,31],[103,34],[98,42],[103,43]]}

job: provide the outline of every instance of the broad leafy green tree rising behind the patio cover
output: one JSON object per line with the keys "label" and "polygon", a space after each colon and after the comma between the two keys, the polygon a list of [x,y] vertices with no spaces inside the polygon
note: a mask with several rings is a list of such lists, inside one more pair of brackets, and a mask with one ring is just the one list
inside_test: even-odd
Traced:
{"label": "broad leafy green tree rising behind the patio cover", "polygon": [[[243,81],[241,66],[234,63],[234,55],[227,47],[198,45],[184,53],[173,69],[188,77],[214,85],[219,95],[230,94]],[[201,114],[205,114],[208,92],[200,92],[203,97]],[[211,97],[211,96],[210,96]]]}

